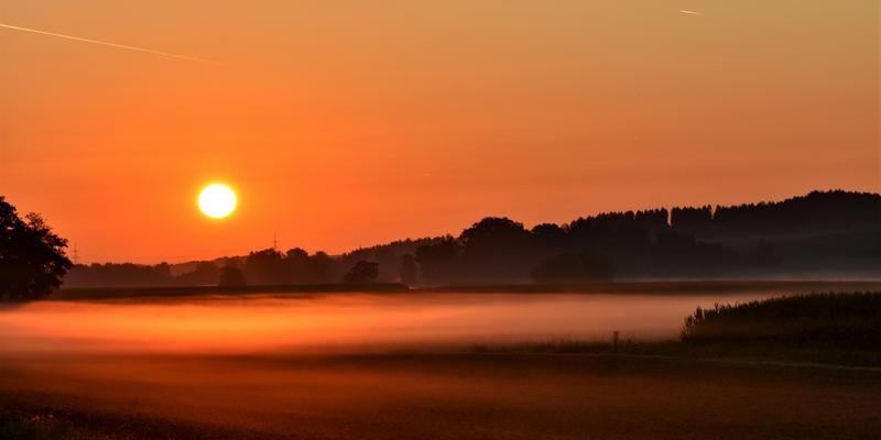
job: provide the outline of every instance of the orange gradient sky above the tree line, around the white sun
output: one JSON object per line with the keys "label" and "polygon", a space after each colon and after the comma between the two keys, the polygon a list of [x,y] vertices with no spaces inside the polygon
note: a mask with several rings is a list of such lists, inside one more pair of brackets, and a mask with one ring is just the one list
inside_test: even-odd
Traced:
{"label": "orange gradient sky above the tree line, around the white sun", "polygon": [[[81,262],[881,189],[875,0],[3,0],[0,23],[222,64],[0,29],[0,195]],[[224,221],[196,208],[214,180]]]}

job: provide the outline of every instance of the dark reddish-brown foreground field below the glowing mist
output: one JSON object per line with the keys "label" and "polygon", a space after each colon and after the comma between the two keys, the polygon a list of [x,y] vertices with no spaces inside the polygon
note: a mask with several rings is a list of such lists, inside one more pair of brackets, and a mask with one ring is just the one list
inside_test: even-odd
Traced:
{"label": "dark reddish-brown foreground field below the glowing mist", "polygon": [[0,361],[2,438],[740,440],[881,432],[881,371],[870,369],[537,353]]}

